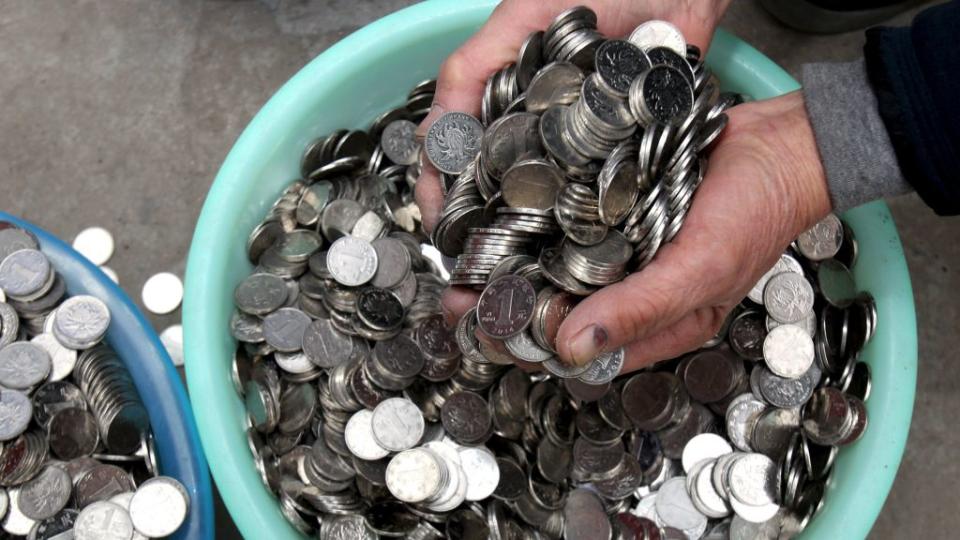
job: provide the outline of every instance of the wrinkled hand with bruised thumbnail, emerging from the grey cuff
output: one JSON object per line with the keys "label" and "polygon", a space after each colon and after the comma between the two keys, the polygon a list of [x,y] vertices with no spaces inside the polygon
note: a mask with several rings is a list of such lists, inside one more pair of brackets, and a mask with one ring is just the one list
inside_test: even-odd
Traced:
{"label": "wrinkled hand with bruised thumbnail, emerging from the grey cuff", "polygon": [[830,211],[800,92],[727,115],[683,228],[642,271],[570,313],[557,336],[562,359],[584,364],[626,346],[627,372],[700,347],[787,245]]}

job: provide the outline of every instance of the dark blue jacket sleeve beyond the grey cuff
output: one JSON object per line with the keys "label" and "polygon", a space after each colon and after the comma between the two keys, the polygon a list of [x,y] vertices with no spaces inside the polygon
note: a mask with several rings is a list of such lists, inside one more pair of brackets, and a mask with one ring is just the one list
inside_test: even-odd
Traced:
{"label": "dark blue jacket sleeve beyond the grey cuff", "polygon": [[907,28],[871,28],[867,74],[904,177],[940,215],[960,214],[960,0]]}

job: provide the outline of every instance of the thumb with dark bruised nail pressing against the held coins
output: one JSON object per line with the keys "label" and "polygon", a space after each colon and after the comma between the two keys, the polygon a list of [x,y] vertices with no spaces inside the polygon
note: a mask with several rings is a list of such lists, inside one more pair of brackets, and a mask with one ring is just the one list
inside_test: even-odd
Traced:
{"label": "thumb with dark bruised nail pressing against the held coins", "polygon": [[584,299],[560,326],[560,358],[584,364],[711,305],[725,289],[717,281],[710,246],[702,244],[696,234],[682,231],[641,272]]}

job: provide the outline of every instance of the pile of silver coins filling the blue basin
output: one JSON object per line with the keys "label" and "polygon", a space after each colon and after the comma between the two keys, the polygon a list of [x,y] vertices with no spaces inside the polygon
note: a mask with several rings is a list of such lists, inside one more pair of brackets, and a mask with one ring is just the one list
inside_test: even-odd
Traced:
{"label": "pile of silver coins filling the blue basin", "polygon": [[102,343],[106,304],[68,297],[23,229],[0,223],[0,516],[28,538],[161,538],[190,497],[157,476],[149,418]]}

